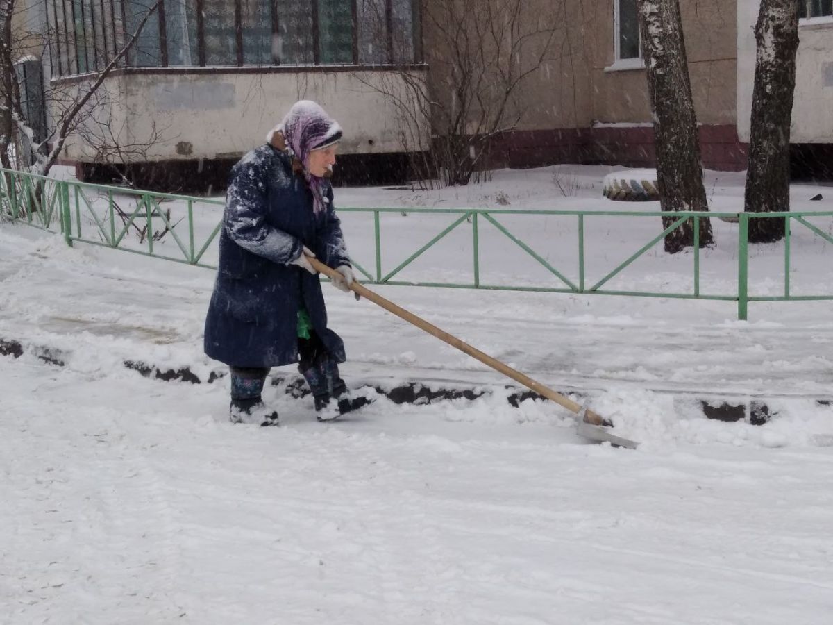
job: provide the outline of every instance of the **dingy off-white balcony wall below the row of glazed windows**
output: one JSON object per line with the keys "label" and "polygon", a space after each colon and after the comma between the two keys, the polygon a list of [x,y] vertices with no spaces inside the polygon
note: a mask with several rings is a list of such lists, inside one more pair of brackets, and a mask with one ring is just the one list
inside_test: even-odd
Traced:
{"label": "dingy off-white balcony wall below the row of glazed windows", "polygon": [[[97,115],[112,117],[122,143],[147,142],[156,126],[161,140],[141,160],[237,158],[262,144],[299,99],[319,102],[341,123],[342,153],[402,151],[400,116],[380,91],[404,88],[397,72],[138,72],[107,78],[105,86]],[[422,134],[427,145],[427,128]],[[94,157],[75,135],[64,158]]]}

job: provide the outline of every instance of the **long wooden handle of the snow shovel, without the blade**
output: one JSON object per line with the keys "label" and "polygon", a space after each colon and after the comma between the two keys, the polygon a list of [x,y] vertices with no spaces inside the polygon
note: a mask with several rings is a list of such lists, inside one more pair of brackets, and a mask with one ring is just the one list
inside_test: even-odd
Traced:
{"label": "long wooden handle of the snow shovel, without the blade", "polygon": [[[341,275],[335,269],[327,267],[327,265],[319,261],[317,258],[307,258],[307,260],[309,260],[310,264],[312,264],[312,267],[315,268],[317,272],[323,273],[327,276],[327,278],[332,279],[334,276],[336,279],[341,278]],[[405,308],[397,306],[390,300],[382,298],[381,295],[373,293],[369,288],[360,284],[357,280],[353,280],[350,288],[354,293],[358,293],[362,296],[362,298],[369,299],[372,303],[381,306],[389,313],[393,313],[397,317],[405,319],[408,323],[412,323],[417,328],[420,328],[426,333],[429,333],[436,338],[439,338],[441,341],[448,343],[452,348],[459,349],[461,352],[471,356],[471,358],[476,358],[481,363],[488,365],[500,373],[503,373],[503,375],[508,378],[512,378],[517,383],[523,384],[531,391],[534,391],[535,393],[538,393],[555,403],[561,404],[561,406],[569,410],[571,413],[580,414],[584,412],[584,408],[582,408],[580,404],[572,401],[570,398],[564,397],[561,393],[556,393],[556,391],[544,386],[540,382],[536,382],[520,371],[511,368],[506,363],[501,363],[501,361],[496,358],[492,358],[487,353],[483,353],[479,349],[471,347],[471,345],[465,341],[461,341],[459,338],[456,338],[453,334],[449,334],[445,330],[437,328],[433,323],[428,323],[425,319],[417,317],[414,313],[407,311]],[[593,425],[602,425],[604,423],[604,419],[601,418],[601,415],[594,413],[591,410],[586,411],[585,420],[587,423],[592,423]]]}

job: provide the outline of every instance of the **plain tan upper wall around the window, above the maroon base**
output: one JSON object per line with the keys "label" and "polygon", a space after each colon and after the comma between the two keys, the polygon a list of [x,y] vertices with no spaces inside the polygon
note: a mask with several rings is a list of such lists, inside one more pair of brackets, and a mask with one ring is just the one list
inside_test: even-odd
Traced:
{"label": "plain tan upper wall around the window, above the maroon base", "polygon": [[[520,130],[589,128],[594,122],[650,123],[644,67],[614,66],[615,0],[529,0],[526,18],[553,24],[550,58],[521,83],[513,111],[523,115]],[[429,0],[429,5],[446,0]],[[430,6],[426,11],[430,10]],[[698,121],[704,125],[736,120],[736,10],[726,0],[682,2],[689,72]],[[441,36],[425,26],[426,57],[438,97],[447,97],[448,77]],[[534,54],[535,46],[528,48]]]}

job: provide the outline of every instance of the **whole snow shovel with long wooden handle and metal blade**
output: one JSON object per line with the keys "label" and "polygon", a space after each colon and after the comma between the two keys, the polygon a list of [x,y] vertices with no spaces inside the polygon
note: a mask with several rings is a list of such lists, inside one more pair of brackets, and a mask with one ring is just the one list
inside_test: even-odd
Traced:
{"label": "whole snow shovel with long wooden handle and metal blade", "polygon": [[[319,261],[317,258],[309,258],[307,260],[312,264],[312,267],[319,273],[323,273],[327,278],[332,280],[333,276],[337,276],[337,278],[341,278],[341,275],[337,273],[335,269],[327,267],[324,263]],[[610,433],[606,428],[610,428],[613,424],[602,418],[600,414],[594,413],[589,408],[584,408],[580,404],[572,401],[570,398],[566,398],[561,393],[556,393],[551,388],[544,386],[543,384],[536,382],[529,376],[524,375],[520,371],[516,371],[516,369],[511,368],[506,363],[501,363],[501,361],[497,360],[496,358],[491,358],[486,353],[481,352],[479,349],[472,348],[471,345],[461,341],[459,338],[446,333],[445,331],[437,328],[435,325],[426,322],[425,319],[417,317],[414,313],[411,313],[405,308],[401,308],[397,306],[395,303],[382,298],[381,295],[377,293],[373,293],[369,288],[364,287],[360,284],[357,280],[354,280],[353,283],[350,285],[351,290],[353,293],[357,293],[362,298],[369,299],[372,303],[381,306],[389,313],[393,313],[402,319],[405,319],[408,323],[412,323],[417,328],[421,330],[425,330],[426,333],[439,338],[441,341],[445,341],[452,348],[457,348],[461,352],[468,354],[471,358],[476,358],[481,363],[488,365],[489,367],[495,369],[496,371],[503,373],[505,376],[512,378],[518,383],[523,384],[526,388],[529,388],[531,391],[538,393],[539,395],[555,402],[561,404],[564,408],[569,410],[571,413],[576,415],[576,422],[578,427],[576,429],[576,433],[582,438],[590,439],[591,441],[596,441],[598,443],[611,443],[611,445],[615,445],[616,447],[623,447],[628,449],[636,449],[638,443],[634,441],[628,440],[627,438],[621,438],[616,436],[615,434]]]}

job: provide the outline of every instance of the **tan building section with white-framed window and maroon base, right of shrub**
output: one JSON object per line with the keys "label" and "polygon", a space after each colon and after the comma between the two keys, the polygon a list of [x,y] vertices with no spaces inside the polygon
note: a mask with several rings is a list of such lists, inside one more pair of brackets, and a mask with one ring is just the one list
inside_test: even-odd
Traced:
{"label": "tan building section with white-framed window and maroon base, right of shrub", "polygon": [[[549,2],[530,0],[544,11]],[[549,74],[531,80],[532,97],[560,112],[530,117],[521,133],[506,137],[506,163],[542,163],[540,146],[561,162],[651,167],[651,104],[641,58],[636,0],[566,2],[568,28]],[[681,2],[691,89],[706,168],[740,170],[746,153],[736,133],[736,8],[726,0]]]}

